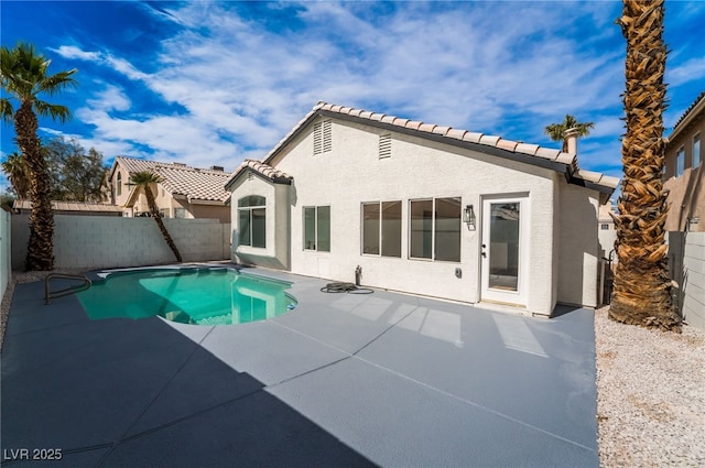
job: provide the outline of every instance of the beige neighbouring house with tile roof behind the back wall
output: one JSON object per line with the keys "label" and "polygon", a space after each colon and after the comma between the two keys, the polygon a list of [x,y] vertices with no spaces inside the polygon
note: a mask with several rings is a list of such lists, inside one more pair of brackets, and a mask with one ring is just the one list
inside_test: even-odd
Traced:
{"label": "beige neighbouring house with tile roof behind the back wall", "polygon": [[160,213],[166,218],[213,218],[230,222],[230,194],[224,189],[229,174],[223,167],[209,170],[191,167],[182,163],[160,163],[117,156],[109,173],[112,204],[121,207],[126,216],[145,216],[149,213],[144,191],[130,182],[137,172],[151,171],[162,177],[152,187]]}

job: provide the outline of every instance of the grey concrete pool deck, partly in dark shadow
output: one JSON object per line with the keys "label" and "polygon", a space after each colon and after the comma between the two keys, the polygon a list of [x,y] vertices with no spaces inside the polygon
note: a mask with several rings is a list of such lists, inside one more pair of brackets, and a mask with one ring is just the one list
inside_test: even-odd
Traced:
{"label": "grey concrete pool deck, partly in dark shadow", "polygon": [[[598,467],[594,311],[532,318],[247,273],[293,282],[299,306],[236,326],[91,322],[75,296],[45,306],[42,282],[18,284],[1,464]],[[62,459],[24,459],[39,449]]]}

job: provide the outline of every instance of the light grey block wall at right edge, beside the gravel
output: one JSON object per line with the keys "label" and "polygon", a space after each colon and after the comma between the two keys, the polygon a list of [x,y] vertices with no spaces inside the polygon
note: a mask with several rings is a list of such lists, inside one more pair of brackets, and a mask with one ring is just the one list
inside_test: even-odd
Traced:
{"label": "light grey block wall at right edge, beside the gravel", "polygon": [[683,254],[683,318],[705,329],[705,232],[687,232]]}

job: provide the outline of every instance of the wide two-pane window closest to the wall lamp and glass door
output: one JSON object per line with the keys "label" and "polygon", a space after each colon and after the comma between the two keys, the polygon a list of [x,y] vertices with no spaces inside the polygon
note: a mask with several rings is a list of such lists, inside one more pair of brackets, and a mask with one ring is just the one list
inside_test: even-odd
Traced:
{"label": "wide two-pane window closest to the wall lamp and glass door", "polygon": [[460,198],[410,202],[409,257],[460,261]]}

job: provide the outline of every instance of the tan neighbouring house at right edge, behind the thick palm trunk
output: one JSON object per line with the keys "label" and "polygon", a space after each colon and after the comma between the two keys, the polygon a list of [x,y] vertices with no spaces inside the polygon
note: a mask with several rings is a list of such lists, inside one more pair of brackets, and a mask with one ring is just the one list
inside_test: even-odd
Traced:
{"label": "tan neighbouring house at right edge, behind the thick palm trunk", "polygon": [[663,188],[669,191],[669,231],[705,231],[703,137],[705,91],[675,122],[668,138]]}

